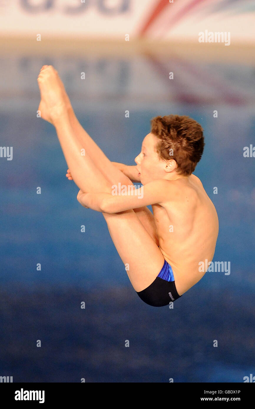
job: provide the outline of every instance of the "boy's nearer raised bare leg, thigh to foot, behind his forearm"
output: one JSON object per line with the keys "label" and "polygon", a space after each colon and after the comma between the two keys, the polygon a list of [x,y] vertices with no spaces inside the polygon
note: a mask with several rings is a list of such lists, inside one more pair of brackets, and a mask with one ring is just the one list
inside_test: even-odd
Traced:
{"label": "boy's nearer raised bare leg, thigh to foot, behind his forearm", "polygon": [[[59,97],[59,85],[51,68],[41,76],[39,86],[42,98],[45,98],[45,106],[50,110],[51,104],[54,106],[56,97]],[[48,114],[46,108],[43,114]],[[86,158],[81,157],[81,144],[75,140],[74,131],[65,109],[62,112],[62,106],[60,111],[54,112],[54,125],[73,180],[82,191],[111,192],[112,184],[117,185],[122,179],[123,183],[131,182],[116,169],[115,178],[110,183],[89,155]],[[133,210],[103,214],[117,252],[123,263],[129,267],[127,272],[135,291],[144,290],[156,279],[164,264],[160,249]]]}

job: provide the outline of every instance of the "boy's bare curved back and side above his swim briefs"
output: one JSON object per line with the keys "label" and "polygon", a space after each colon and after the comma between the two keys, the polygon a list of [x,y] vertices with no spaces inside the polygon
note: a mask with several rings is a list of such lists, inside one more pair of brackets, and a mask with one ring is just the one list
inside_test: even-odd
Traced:
{"label": "boy's bare curved back and side above his swim briefs", "polygon": [[171,265],[179,295],[205,272],[199,262],[212,261],[219,231],[216,209],[199,178],[169,180],[166,201],[152,205],[159,248]]}

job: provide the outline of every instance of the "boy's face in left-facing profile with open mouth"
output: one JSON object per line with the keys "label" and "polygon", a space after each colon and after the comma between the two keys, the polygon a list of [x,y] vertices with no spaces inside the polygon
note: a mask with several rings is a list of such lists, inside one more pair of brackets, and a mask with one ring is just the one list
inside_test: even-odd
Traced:
{"label": "boy's face in left-facing profile with open mouth", "polygon": [[166,162],[158,157],[155,146],[158,143],[158,138],[152,133],[148,133],[142,141],[142,150],[135,158],[137,170],[142,184],[151,182],[152,180],[163,179],[166,175],[164,166]]}

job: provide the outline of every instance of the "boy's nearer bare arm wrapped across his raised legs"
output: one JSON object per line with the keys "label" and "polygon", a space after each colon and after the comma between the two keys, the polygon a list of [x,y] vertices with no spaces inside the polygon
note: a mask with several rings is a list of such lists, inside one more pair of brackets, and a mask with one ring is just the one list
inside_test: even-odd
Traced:
{"label": "boy's nearer bare arm wrapped across his raised legs", "polygon": [[153,180],[126,194],[81,193],[77,200],[82,206],[104,213],[119,213],[129,209],[160,204],[172,197],[171,181]]}

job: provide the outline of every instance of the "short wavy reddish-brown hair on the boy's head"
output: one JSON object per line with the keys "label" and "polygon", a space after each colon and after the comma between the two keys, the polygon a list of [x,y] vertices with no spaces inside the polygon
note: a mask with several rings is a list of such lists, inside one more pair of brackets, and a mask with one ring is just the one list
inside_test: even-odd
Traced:
{"label": "short wavy reddish-brown hair on the boy's head", "polygon": [[151,133],[159,139],[156,151],[160,159],[174,159],[180,175],[194,172],[205,146],[203,128],[197,121],[186,115],[158,116],[151,119]]}

